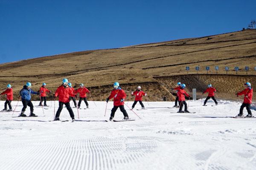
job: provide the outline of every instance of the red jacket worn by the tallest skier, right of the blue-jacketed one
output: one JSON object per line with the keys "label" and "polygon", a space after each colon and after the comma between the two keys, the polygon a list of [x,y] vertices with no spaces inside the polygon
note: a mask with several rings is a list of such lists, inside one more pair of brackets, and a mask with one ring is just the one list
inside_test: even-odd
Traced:
{"label": "red jacket worn by the tallest skier, right of the blue-jacketed one", "polygon": [[73,91],[69,87],[59,86],[55,91],[55,97],[59,97],[59,102],[67,103],[70,102],[69,97],[74,95]]}

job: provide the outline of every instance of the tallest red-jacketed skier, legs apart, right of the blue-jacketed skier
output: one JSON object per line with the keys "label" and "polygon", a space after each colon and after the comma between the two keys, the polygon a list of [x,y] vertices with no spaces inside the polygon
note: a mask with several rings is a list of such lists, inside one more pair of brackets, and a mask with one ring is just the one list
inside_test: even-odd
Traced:
{"label": "tallest red-jacketed skier, legs apart, right of the blue-jacketed skier", "polygon": [[54,99],[58,96],[58,101],[59,101],[59,108],[58,111],[55,115],[54,120],[60,120],[60,114],[63,109],[63,105],[67,107],[68,112],[70,113],[70,117],[72,121],[75,121],[75,116],[72,111],[72,108],[70,107],[70,96],[73,96],[73,91],[71,88],[68,87],[68,79],[63,79],[62,80],[62,85],[57,88],[55,91]]}

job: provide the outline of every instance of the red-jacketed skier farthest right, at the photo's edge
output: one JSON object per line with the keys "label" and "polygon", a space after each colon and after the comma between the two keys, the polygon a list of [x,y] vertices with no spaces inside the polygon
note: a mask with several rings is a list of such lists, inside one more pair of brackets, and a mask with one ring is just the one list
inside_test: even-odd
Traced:
{"label": "red-jacketed skier farthest right, at the photo's edge", "polygon": [[244,102],[241,105],[240,112],[237,116],[243,116],[243,110],[244,110],[244,107],[246,107],[246,110],[248,112],[246,117],[252,117],[253,115],[250,110],[250,104],[252,103],[252,100],[253,100],[253,88],[251,87],[250,82],[246,82],[244,86],[245,86],[245,89],[236,94],[236,96],[244,95]]}

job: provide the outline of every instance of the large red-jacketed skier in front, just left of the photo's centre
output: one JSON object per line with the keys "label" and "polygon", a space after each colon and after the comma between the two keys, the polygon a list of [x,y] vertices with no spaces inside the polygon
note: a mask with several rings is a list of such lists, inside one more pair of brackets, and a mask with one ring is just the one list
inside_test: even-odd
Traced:
{"label": "large red-jacketed skier in front, just left of the photo's centre", "polygon": [[123,113],[124,115],[124,119],[129,119],[128,113],[125,111],[125,107],[124,107],[124,101],[126,98],[126,94],[125,91],[122,90],[122,88],[119,87],[119,83],[118,82],[114,82],[114,90],[111,91],[110,96],[108,96],[108,98],[106,99],[106,102],[108,103],[108,100],[114,98],[114,107],[111,110],[111,116],[109,118],[110,121],[113,120],[116,110],[118,108],[120,108],[120,111]]}

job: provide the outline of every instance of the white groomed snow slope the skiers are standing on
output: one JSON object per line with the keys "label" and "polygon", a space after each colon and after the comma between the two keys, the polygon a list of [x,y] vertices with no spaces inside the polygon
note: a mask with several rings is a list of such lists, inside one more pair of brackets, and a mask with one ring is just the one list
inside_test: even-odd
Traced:
{"label": "white groomed snow slope the skiers are standing on", "polygon": [[[239,102],[212,107],[209,100],[205,107],[201,100],[190,101],[195,114],[170,113],[177,111],[167,108],[173,102],[144,102],[147,110],[137,111],[138,104],[134,109],[142,119],[125,106],[136,121],[100,122],[109,119],[113,102],[104,117],[106,102],[96,107],[89,101],[90,109],[79,110],[79,121],[48,122],[53,103],[47,102],[45,116],[35,107],[34,113],[44,117],[0,113],[0,170],[256,170],[256,119],[226,117],[239,113]],[[16,110],[21,108],[19,102]],[[60,118],[71,120],[66,108]],[[122,118],[118,110],[115,119]]]}

